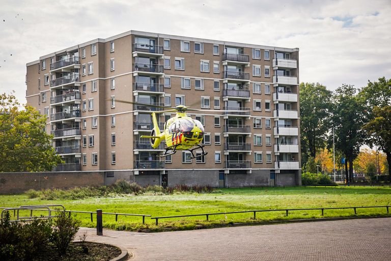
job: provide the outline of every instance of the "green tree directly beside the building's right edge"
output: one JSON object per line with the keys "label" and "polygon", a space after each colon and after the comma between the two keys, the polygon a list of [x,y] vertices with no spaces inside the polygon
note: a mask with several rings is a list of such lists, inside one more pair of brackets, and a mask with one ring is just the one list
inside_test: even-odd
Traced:
{"label": "green tree directly beside the building's right edge", "polygon": [[329,109],[331,92],[319,83],[300,83],[300,134],[302,158],[316,157],[316,151],[325,147],[330,128]]}

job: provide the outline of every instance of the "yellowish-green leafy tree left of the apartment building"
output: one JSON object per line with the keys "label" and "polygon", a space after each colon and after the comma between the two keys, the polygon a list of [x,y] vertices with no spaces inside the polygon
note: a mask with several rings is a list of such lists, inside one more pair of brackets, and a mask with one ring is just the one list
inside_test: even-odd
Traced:
{"label": "yellowish-green leafy tree left of the apartment building", "polygon": [[46,118],[19,105],[13,94],[0,94],[0,172],[49,171],[62,159],[45,132]]}

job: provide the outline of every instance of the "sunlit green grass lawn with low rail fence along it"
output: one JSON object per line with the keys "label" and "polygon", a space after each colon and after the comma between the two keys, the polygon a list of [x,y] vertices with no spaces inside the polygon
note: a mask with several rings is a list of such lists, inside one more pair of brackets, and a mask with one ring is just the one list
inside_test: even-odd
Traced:
{"label": "sunlit green grass lawn with low rail fence along it", "polygon": [[[117,197],[87,198],[77,200],[41,200],[26,195],[0,195],[0,207],[18,207],[21,205],[62,204],[67,210],[148,214],[152,217],[176,216],[202,213],[234,212],[263,209],[286,208],[330,208],[358,206],[386,206],[391,202],[389,187],[285,187],[285,188],[242,188],[221,189],[214,193],[184,193],[173,195],[123,195]],[[25,214],[27,215],[27,213]],[[387,215],[386,209],[325,210],[324,217],[377,216]],[[390,215],[391,216],[391,215]],[[81,226],[95,227],[89,214],[77,214]],[[320,211],[295,211],[286,217],[285,212],[253,213],[160,219],[146,217],[142,225],[141,217],[103,216],[103,226],[115,229],[139,230],[150,228],[161,230],[164,227],[191,229],[197,225],[212,227],[219,223],[272,221],[300,218],[321,218]]]}

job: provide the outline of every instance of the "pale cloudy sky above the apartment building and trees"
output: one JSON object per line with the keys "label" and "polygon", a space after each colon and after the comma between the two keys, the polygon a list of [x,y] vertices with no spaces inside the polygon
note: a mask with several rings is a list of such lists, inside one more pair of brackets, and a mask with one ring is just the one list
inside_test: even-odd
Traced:
{"label": "pale cloudy sky above the apartment building and trees", "polygon": [[300,49],[300,82],[391,78],[391,0],[0,0],[0,94],[25,103],[26,63],[130,30]]}

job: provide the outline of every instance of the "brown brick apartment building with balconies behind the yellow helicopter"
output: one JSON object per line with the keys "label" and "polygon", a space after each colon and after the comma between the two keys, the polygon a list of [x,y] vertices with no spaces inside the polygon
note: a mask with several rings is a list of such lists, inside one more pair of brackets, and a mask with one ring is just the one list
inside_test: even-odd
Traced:
{"label": "brown brick apartment building with balconies behind the yellow helicopter", "polygon": [[[26,99],[66,162],[53,171],[142,185],[299,185],[298,51],[129,31],[28,63]],[[141,135],[163,109],[116,100],[208,109],[188,113],[205,126],[208,155],[159,157],[164,143],[152,149]],[[173,113],[158,114],[161,129]]]}

